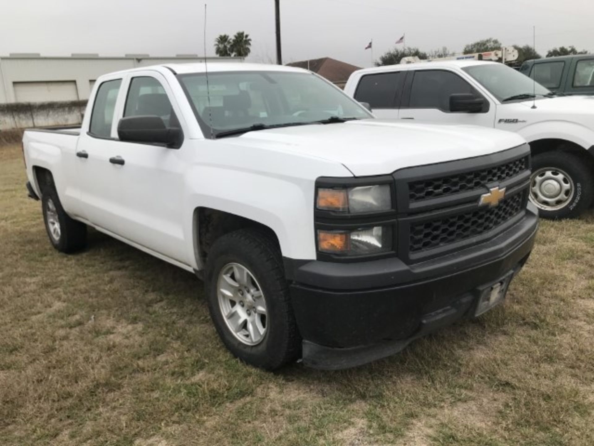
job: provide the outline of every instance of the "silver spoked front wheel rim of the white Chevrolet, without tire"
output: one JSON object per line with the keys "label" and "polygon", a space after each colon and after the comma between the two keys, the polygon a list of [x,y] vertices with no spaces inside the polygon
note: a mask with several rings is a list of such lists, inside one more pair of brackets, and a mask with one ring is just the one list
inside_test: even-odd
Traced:
{"label": "silver spoked front wheel rim of the white Chevrolet, without tire", "polygon": [[266,299],[258,281],[245,266],[228,263],[217,279],[219,308],[229,331],[247,346],[264,340],[268,326]]}

